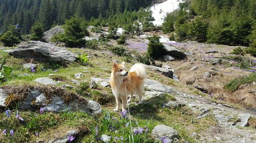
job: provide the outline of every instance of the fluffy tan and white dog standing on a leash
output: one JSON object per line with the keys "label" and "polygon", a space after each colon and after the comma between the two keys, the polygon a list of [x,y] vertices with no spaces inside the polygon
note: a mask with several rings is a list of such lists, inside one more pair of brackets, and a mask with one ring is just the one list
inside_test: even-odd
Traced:
{"label": "fluffy tan and white dog standing on a leash", "polygon": [[[139,104],[141,104],[142,95],[145,92],[143,80],[146,78],[146,71],[144,65],[135,64],[129,72],[126,71],[124,65],[124,62],[121,64],[114,62],[111,72],[110,85],[116,98],[116,108],[114,111],[119,110],[121,101],[122,111],[124,111],[127,102],[131,102],[135,94],[139,95]],[[128,95],[130,95],[129,100],[127,100]]]}

